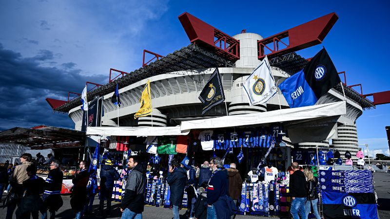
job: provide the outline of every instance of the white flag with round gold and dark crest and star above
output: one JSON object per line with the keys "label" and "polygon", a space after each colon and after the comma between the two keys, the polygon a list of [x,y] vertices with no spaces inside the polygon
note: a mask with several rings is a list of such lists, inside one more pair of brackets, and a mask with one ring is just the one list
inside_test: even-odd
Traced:
{"label": "white flag with round gold and dark crest and star above", "polygon": [[275,79],[267,56],[245,80],[243,89],[250,105],[266,103],[276,94]]}

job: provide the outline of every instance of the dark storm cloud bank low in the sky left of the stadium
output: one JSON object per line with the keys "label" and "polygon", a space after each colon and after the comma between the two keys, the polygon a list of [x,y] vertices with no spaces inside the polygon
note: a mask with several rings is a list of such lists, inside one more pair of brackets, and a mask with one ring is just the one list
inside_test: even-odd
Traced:
{"label": "dark storm cloud bank low in the sky left of the stadium", "polygon": [[107,75],[83,75],[75,63],[42,67],[53,53],[41,50],[30,58],[6,50],[0,43],[0,129],[49,125],[74,128],[67,114],[53,113],[45,98],[66,100],[68,91],[80,93],[86,81],[107,83]]}

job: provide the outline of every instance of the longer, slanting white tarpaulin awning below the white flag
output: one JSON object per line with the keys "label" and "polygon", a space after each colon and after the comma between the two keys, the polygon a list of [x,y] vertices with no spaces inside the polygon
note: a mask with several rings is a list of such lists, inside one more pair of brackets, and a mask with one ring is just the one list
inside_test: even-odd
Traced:
{"label": "longer, slanting white tarpaulin awning below the white flag", "polygon": [[346,113],[346,102],[342,101],[309,107],[298,107],[269,112],[258,112],[243,115],[222,116],[211,119],[184,121],[181,123],[180,128],[181,130],[188,130],[193,128],[202,129],[250,126],[274,122],[321,118],[326,116],[337,116]]}

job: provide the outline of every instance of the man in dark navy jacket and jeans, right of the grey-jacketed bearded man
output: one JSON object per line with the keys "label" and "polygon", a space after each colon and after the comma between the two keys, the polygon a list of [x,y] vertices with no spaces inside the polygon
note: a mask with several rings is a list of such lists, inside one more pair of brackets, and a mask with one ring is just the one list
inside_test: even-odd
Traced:
{"label": "man in dark navy jacket and jeans, right of the grey-jacketed bearded man", "polygon": [[179,166],[179,162],[176,159],[172,159],[171,166],[169,167],[169,173],[167,183],[170,186],[171,196],[169,201],[172,204],[172,212],[174,219],[180,219],[179,206],[183,201],[184,186],[187,180],[187,171],[183,167]]}

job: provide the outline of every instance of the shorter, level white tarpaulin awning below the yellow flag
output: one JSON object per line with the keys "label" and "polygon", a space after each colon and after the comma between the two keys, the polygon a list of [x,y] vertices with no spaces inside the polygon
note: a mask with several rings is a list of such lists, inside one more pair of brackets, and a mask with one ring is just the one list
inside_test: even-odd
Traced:
{"label": "shorter, level white tarpaulin awning below the yellow flag", "polygon": [[117,135],[117,136],[163,136],[187,135],[190,130],[180,130],[180,127],[88,127],[87,135]]}

